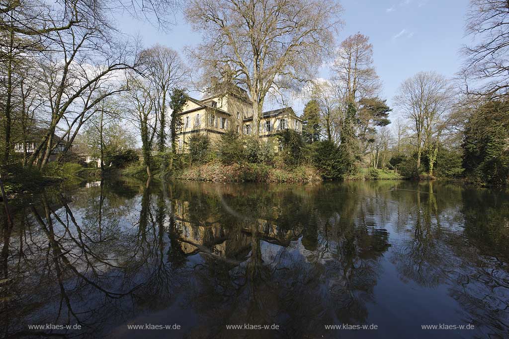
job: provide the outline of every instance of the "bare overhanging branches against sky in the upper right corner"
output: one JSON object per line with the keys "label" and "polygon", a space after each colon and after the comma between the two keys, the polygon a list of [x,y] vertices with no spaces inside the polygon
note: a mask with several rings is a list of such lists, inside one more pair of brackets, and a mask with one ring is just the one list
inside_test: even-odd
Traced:
{"label": "bare overhanging branches against sky in the upper right corner", "polygon": [[[460,75],[465,92],[489,100],[509,95],[509,3],[507,0],[471,0],[466,34],[477,39],[463,47]],[[468,81],[473,81],[473,88]]]}

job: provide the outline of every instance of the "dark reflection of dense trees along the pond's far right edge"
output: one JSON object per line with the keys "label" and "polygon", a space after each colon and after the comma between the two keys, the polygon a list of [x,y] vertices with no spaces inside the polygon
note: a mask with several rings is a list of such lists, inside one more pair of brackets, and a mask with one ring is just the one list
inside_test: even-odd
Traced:
{"label": "dark reflection of dense trees along the pond's far right edge", "polygon": [[445,274],[450,294],[486,337],[509,336],[509,196],[506,191],[466,189],[463,234],[447,240]]}

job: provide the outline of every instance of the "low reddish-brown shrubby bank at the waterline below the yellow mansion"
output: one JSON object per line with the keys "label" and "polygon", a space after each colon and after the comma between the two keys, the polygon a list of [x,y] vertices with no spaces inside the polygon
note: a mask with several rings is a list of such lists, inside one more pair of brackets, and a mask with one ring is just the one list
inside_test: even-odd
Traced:
{"label": "low reddish-brown shrubby bank at the waterline below the yellow mansion", "polygon": [[177,179],[216,182],[310,182],[321,181],[318,170],[309,166],[280,169],[262,164],[222,165],[209,163],[184,169]]}

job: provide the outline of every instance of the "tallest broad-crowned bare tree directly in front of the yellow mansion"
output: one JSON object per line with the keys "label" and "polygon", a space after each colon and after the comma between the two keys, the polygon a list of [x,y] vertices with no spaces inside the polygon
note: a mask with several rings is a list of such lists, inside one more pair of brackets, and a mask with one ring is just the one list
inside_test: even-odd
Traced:
{"label": "tallest broad-crowned bare tree directly in front of the yellow mansion", "polygon": [[189,49],[205,76],[227,70],[247,89],[254,135],[267,94],[315,78],[340,27],[333,0],[191,0],[187,20],[204,42]]}

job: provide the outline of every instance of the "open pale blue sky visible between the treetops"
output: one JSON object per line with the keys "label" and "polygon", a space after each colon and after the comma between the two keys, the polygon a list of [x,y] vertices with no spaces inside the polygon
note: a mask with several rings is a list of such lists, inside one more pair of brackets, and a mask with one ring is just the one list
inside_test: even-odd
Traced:
{"label": "open pale blue sky visible between the treetops", "polygon": [[[337,44],[360,32],[373,44],[375,67],[383,81],[381,96],[391,103],[400,83],[419,71],[436,71],[453,77],[461,65],[459,49],[464,38],[468,0],[343,0],[344,28]],[[176,18],[181,18],[177,14]],[[184,46],[200,43],[183,19],[168,32],[129,16],[118,19],[119,28],[139,35],[145,47],[155,43],[183,52]],[[327,78],[322,68],[320,77]],[[290,103],[301,114],[303,102]]]}

